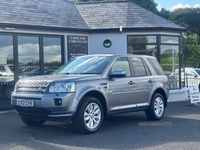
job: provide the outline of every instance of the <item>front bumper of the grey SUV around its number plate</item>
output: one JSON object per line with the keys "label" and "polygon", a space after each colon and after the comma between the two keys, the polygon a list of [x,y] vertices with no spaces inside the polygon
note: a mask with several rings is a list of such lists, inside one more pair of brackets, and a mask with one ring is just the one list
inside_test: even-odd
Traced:
{"label": "front bumper of the grey SUV around its number plate", "polygon": [[[17,101],[32,101],[33,106],[20,106]],[[61,100],[57,105],[55,100]],[[21,117],[41,118],[45,120],[70,121],[76,112],[78,100],[75,93],[65,94],[22,94],[13,93],[11,104]]]}

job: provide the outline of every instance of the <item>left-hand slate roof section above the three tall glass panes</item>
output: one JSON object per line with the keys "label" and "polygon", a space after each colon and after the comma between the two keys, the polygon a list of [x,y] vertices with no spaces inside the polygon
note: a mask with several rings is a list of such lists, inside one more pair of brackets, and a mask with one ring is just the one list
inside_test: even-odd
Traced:
{"label": "left-hand slate roof section above the three tall glass panes", "polygon": [[88,28],[74,3],[65,0],[0,0],[0,23]]}

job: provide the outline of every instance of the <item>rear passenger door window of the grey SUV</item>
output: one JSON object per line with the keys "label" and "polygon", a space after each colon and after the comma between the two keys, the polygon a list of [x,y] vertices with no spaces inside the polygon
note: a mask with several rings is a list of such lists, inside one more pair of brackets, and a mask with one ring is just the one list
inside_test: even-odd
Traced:
{"label": "rear passenger door window of the grey SUV", "polygon": [[131,58],[134,76],[146,76],[146,70],[141,58]]}

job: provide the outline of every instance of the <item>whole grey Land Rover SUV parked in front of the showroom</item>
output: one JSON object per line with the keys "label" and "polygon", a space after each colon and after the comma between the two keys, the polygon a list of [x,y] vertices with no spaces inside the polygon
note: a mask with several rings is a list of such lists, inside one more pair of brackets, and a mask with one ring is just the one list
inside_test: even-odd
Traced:
{"label": "whole grey Land Rover SUV parked in front of the showroom", "polygon": [[108,115],[145,111],[160,120],[168,96],[168,78],[156,58],[99,54],[78,57],[53,75],[19,80],[11,103],[27,125],[73,121],[77,131],[94,133]]}

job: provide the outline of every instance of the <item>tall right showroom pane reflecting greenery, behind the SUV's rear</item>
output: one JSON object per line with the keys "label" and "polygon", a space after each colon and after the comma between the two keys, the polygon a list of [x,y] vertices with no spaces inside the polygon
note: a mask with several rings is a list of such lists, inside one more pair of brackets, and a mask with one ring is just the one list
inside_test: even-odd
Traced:
{"label": "tall right showroom pane reflecting greenery, behind the SUV's rear", "polygon": [[161,66],[169,78],[170,89],[179,87],[179,45],[178,37],[161,36]]}

